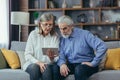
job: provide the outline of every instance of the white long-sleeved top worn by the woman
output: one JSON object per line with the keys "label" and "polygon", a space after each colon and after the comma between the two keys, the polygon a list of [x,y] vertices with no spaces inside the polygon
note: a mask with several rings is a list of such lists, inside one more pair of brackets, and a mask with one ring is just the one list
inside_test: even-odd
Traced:
{"label": "white long-sleeved top worn by the woman", "polygon": [[29,64],[36,63],[38,61],[50,63],[50,59],[48,56],[43,55],[42,48],[58,48],[59,46],[59,38],[57,35],[50,35],[43,36],[39,34],[39,29],[33,30],[29,37],[26,44],[25,49],[25,60],[26,63],[23,66],[23,69],[26,70]]}

